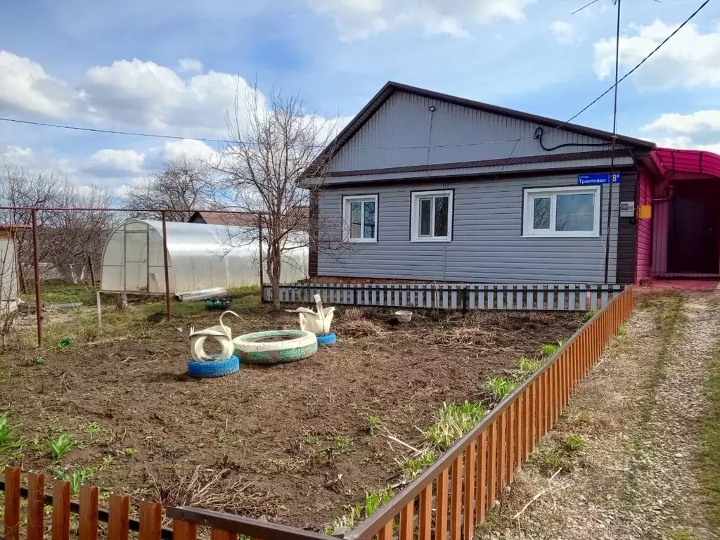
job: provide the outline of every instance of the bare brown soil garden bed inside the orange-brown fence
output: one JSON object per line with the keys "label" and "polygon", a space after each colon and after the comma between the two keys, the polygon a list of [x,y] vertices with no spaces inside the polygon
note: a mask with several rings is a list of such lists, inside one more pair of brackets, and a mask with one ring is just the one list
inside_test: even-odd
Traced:
{"label": "bare brown soil garden bed inside the orange-brown fence", "polygon": [[[487,377],[512,376],[518,359],[582,324],[579,314],[428,311],[392,325],[390,312],[341,309],[337,345],[310,359],[196,380],[186,375],[188,330],[217,324],[217,313],[168,323],[158,309],[111,312],[102,335],[82,322],[91,310],[63,314],[48,334],[71,333],[71,346],[42,360],[30,347],[3,355],[0,414],[14,443],[0,449],[0,467],[86,469],[103,493],[320,530],[366,490],[400,482],[408,451],[385,435],[422,446],[443,402],[485,400]],[[297,326],[266,306],[241,315],[233,335]],[[62,433],[73,446],[53,460],[48,437]]]}

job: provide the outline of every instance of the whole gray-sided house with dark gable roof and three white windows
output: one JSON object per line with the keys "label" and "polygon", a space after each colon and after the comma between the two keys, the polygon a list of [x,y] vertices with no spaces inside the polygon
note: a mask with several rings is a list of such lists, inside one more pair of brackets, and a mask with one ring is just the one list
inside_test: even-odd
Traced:
{"label": "whole gray-sided house with dark gable roof and three white windows", "polygon": [[311,228],[351,248],[325,253],[320,240],[310,275],[632,283],[629,203],[654,144],[618,135],[613,152],[612,137],[389,82],[325,150]]}

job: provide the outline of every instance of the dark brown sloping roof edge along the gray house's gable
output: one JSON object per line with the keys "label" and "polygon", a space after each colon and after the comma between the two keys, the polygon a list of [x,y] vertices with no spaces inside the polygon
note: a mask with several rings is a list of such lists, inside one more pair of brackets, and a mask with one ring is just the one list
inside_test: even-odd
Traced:
{"label": "dark brown sloping roof edge along the gray house's gable", "polygon": [[[613,140],[613,134],[609,131],[596,130],[593,127],[585,127],[577,124],[566,124],[562,120],[555,120],[538,114],[530,114],[528,112],[522,112],[515,109],[506,109],[505,107],[498,107],[497,105],[490,105],[487,103],[476,102],[473,99],[465,99],[458,96],[451,96],[450,94],[442,94],[441,92],[435,92],[432,90],[426,90],[418,88],[417,86],[409,86],[407,84],[396,83],[394,81],[387,81],[382,89],[373,96],[373,98],[356,114],[356,116],[348,122],[348,125],[338,134],[332,143],[328,145],[325,152],[331,151],[333,156],[343,147],[343,145],[352,138],[365,124],[365,122],[379,109],[387,99],[392,96],[396,91],[407,92],[408,94],[415,94],[416,96],[426,97],[428,99],[437,99],[438,101],[461,105],[462,107],[469,107],[470,109],[477,109],[479,111],[490,112],[492,114],[501,114],[510,118],[516,118],[518,120],[525,120],[526,122],[533,122],[546,127],[557,127],[562,125],[563,130],[580,133],[580,135],[588,135],[589,137],[595,137],[598,139]],[[647,140],[636,139],[632,137],[626,137],[625,135],[616,135],[616,140],[621,145],[635,146],[640,148],[655,148],[655,143],[651,143]],[[325,156],[325,159],[328,157]],[[317,163],[317,162],[316,162]],[[310,169],[310,167],[308,167]],[[306,171],[307,172],[307,171]],[[305,176],[305,175],[303,175]]]}

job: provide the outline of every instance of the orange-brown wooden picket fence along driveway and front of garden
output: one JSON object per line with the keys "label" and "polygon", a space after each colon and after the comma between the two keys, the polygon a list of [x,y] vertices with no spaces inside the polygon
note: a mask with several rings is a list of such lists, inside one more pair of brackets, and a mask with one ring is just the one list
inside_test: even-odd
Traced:
{"label": "orange-brown wooden picket fence along driveway and front of garden", "polygon": [[[552,356],[532,377],[498,403],[467,435],[442,454],[410,485],[398,492],[344,535],[344,540],[469,540],[485,521],[505,488],[544,434],[562,414],[591,366],[616,336],[633,309],[628,287],[603,307],[589,323]],[[68,540],[71,513],[78,515],[78,538],[97,540],[99,522],[107,523],[109,540],[197,540],[198,526],[211,529],[211,540],[237,540],[243,534],[258,540],[331,540],[325,534],[197,508],[166,508],[173,529],[162,528],[159,503],[141,502],[139,519],[129,517],[130,500],[110,495],[109,510],[98,509],[96,487],[82,486],[80,503],[71,502],[68,482],[55,480],[53,495],[45,495],[42,474],[5,469],[4,539],[42,540],[45,505],[52,506],[52,539]],[[27,518],[20,519],[21,498],[27,498]],[[105,536],[105,535],[104,535]]]}

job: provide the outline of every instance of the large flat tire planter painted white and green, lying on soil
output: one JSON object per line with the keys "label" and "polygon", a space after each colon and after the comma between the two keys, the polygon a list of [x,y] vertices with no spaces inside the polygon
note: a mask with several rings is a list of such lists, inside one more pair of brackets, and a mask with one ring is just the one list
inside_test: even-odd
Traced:
{"label": "large flat tire planter painted white and green, lying on soil", "polygon": [[253,332],[233,339],[235,354],[246,364],[285,364],[318,352],[318,338],[305,330]]}

